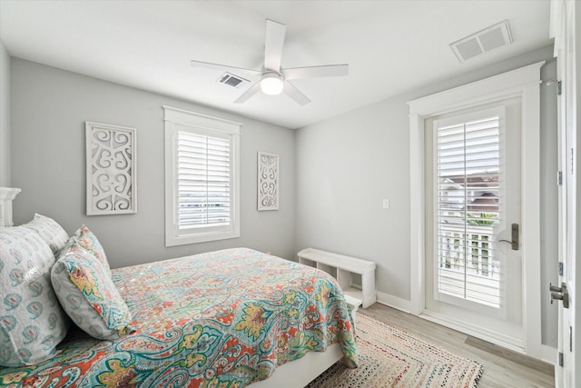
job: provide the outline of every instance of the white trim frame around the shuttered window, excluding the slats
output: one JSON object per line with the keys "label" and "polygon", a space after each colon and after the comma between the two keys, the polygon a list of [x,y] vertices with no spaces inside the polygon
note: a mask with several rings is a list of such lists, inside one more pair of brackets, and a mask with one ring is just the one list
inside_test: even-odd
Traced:
{"label": "white trim frame around the shuttered window, excluding the slats", "polygon": [[[204,114],[196,114],[182,109],[163,105],[165,131],[165,246],[205,243],[240,237],[240,127],[241,124],[222,120]],[[177,230],[177,160],[175,155],[176,124],[192,126],[205,131],[231,134],[232,185],[231,205],[232,222],[227,230],[215,227],[192,230],[184,234]]]}

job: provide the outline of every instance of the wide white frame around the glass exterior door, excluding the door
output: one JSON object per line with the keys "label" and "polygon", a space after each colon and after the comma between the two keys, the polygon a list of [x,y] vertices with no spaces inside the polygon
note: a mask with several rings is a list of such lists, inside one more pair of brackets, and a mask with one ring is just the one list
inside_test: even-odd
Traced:
{"label": "wide white frame around the glass exterior door, excluding the door", "polygon": [[[540,287],[540,68],[545,62],[527,65],[409,104],[410,167],[410,312],[433,321],[425,312],[425,164],[424,120],[436,114],[520,96],[522,101],[522,233],[524,349],[515,349],[538,359],[541,346]],[[450,323],[448,323],[449,325]],[[470,328],[455,327],[465,333]],[[488,338],[506,345],[495,338]],[[511,346],[508,346],[511,347]],[[511,347],[512,348],[512,347]]]}

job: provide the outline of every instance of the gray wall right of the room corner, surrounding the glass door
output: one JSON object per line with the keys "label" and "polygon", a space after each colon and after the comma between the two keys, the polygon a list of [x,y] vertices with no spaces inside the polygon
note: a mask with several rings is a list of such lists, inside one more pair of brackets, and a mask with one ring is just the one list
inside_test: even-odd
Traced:
{"label": "gray wall right of the room corner, surrounding the glass door", "polygon": [[[378,291],[409,301],[409,107],[425,95],[547,61],[554,79],[552,46],[442,80],[319,124],[296,134],[296,249],[326,249],[376,262]],[[541,86],[541,184],[543,290],[556,283],[556,96]],[[389,209],[381,200],[389,198]],[[556,347],[556,307],[543,293],[542,342]]]}

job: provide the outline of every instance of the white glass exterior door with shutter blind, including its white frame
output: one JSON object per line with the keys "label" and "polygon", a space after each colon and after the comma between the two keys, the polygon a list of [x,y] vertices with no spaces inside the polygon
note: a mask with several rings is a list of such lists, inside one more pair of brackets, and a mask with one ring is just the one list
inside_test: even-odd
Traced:
{"label": "white glass exterior door with shutter blind, including its white frame", "polygon": [[410,312],[538,359],[542,65],[409,102]]}

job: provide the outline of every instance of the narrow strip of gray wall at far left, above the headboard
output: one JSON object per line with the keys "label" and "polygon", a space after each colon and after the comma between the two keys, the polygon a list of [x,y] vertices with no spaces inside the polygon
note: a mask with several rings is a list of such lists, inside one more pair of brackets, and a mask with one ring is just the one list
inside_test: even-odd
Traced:
{"label": "narrow strip of gray wall at far left, above the headboard", "polygon": [[0,187],[10,187],[10,55],[0,41]]}

